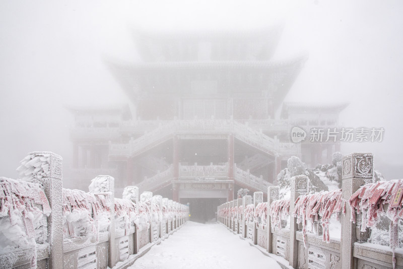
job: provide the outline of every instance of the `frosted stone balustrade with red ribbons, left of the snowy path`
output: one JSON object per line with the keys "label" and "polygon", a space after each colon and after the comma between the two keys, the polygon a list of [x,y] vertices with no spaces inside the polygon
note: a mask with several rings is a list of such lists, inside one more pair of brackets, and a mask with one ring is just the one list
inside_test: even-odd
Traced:
{"label": "frosted stone balustrade with red ribbons, left of the snowy path", "polygon": [[0,244],[0,267],[125,268],[188,221],[187,206],[136,186],[115,198],[111,176],[95,177],[89,192],[62,188],[61,165],[34,152],[18,168],[22,180],[0,178],[2,230],[21,230],[20,241]]}

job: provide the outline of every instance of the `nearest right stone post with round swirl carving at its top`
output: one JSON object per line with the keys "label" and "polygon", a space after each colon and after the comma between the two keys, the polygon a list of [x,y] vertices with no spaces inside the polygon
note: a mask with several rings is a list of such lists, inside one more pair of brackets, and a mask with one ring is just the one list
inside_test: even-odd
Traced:
{"label": "nearest right stone post with round swirl carving at its top", "polygon": [[[373,156],[371,153],[352,153],[343,157],[342,191],[344,200],[366,183],[372,180]],[[351,209],[346,205],[346,215],[342,216],[341,263],[342,268],[356,268],[353,257],[353,244],[357,241],[356,224],[350,221]]]}

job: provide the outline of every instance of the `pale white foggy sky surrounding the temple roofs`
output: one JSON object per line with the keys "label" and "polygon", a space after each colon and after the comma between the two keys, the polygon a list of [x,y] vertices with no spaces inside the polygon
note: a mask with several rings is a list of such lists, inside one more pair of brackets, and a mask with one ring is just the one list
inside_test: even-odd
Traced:
{"label": "pale white foggy sky surrounding the temple roofs", "polygon": [[[401,1],[2,1],[0,171],[31,151],[52,151],[69,169],[73,116],[65,105],[129,103],[109,59],[139,61],[136,29],[284,26],[274,59],[309,55],[286,101],[349,102],[341,126],[384,127],[381,143],[342,143],[374,153],[386,178],[403,176]],[[277,111],[279,116],[280,111]]]}

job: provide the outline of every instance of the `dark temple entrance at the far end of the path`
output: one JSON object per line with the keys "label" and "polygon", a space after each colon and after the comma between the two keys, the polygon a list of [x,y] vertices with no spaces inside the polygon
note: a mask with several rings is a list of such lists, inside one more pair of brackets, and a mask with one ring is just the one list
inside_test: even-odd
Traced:
{"label": "dark temple entrance at the far end of the path", "polygon": [[200,223],[215,221],[217,207],[226,201],[226,198],[180,198],[180,204],[189,203],[190,221]]}

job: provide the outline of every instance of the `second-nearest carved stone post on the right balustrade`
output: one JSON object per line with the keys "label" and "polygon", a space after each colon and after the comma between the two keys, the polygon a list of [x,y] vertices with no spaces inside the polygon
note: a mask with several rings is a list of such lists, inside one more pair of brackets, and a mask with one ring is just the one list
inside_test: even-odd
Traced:
{"label": "second-nearest carved stone post on the right balustrade", "polygon": [[295,200],[301,194],[308,192],[308,177],[307,176],[293,176],[291,178],[291,197],[290,197],[290,265],[294,268],[297,267],[298,262],[298,241],[296,239],[296,232],[298,231],[297,218],[293,216]]}

